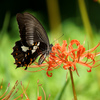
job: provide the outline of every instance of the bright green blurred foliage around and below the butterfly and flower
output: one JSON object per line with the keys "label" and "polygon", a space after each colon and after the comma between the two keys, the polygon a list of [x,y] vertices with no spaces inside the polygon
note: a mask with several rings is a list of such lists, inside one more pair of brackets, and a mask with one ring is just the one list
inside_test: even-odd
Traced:
{"label": "bright green blurred foliage around and below the butterfly and flower", "polygon": [[[8,16],[8,15],[6,15]],[[9,21],[9,19],[7,19]],[[7,23],[7,22],[4,22]],[[12,57],[12,48],[15,45],[15,41],[19,40],[19,32],[18,25],[16,23],[15,17],[11,19],[11,30],[8,32],[7,28],[3,27],[2,34],[0,34],[0,80],[2,78],[4,80],[4,89],[7,84],[10,82],[10,89],[13,87],[16,80],[19,82],[22,81],[23,85],[26,87],[28,82],[30,81],[29,87],[27,89],[27,94],[31,100],[36,100],[37,98],[37,80],[40,80],[40,83],[44,87],[46,92],[46,96],[48,97],[51,94],[50,100],[57,100],[56,98],[60,94],[61,89],[63,88],[66,82],[66,73],[63,68],[55,69],[52,71],[53,76],[51,78],[47,77],[46,71],[29,73],[21,70],[20,68],[16,69],[16,65],[14,65],[14,58]],[[88,41],[88,37],[85,34],[85,30],[83,26],[78,26],[74,21],[66,20],[62,23],[64,36],[61,37],[63,40],[67,40],[69,43],[69,39],[78,39],[81,43],[85,40],[87,50],[90,49],[90,41]],[[47,32],[48,33],[48,32]],[[99,42],[100,35],[94,30],[94,45]],[[59,37],[59,36],[58,36]],[[50,40],[53,41],[54,39]],[[75,88],[77,91],[78,100],[99,100],[99,77],[100,77],[100,67],[97,67],[92,70],[91,73],[86,71],[87,68],[83,68],[78,65],[78,72],[80,77],[77,76],[76,72],[73,72]],[[34,69],[35,70],[35,69]],[[69,74],[68,74],[69,78]],[[22,93],[20,89],[20,85],[18,86],[19,91],[17,96]],[[2,93],[4,93],[4,89],[2,89]],[[43,93],[41,92],[42,96]],[[69,84],[67,84],[66,90],[63,93],[61,100],[72,100],[72,86],[69,80]]]}

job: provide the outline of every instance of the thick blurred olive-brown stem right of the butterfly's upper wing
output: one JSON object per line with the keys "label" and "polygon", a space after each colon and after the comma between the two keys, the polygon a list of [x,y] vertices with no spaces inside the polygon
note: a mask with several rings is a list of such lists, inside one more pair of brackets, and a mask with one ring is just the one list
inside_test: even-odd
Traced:
{"label": "thick blurred olive-brown stem right of the butterfly's upper wing", "polygon": [[46,0],[46,3],[51,36],[56,38],[57,36],[61,36],[60,33],[62,33],[59,2],[58,0]]}

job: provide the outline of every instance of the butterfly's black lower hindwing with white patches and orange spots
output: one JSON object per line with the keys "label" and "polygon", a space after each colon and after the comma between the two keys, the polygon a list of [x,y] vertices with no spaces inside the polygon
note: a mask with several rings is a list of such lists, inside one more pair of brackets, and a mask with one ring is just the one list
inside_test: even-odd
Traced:
{"label": "butterfly's black lower hindwing with white patches and orange spots", "polygon": [[17,68],[21,66],[27,67],[31,65],[43,51],[43,43],[35,42],[34,46],[26,47],[22,45],[21,41],[17,41],[13,47],[12,55],[15,58]]}

